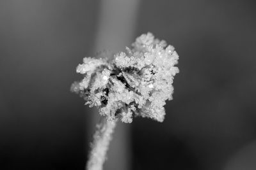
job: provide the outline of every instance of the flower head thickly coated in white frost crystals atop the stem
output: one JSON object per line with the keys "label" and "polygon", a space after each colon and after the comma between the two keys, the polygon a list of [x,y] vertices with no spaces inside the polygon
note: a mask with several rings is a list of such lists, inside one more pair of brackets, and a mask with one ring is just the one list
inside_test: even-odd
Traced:
{"label": "flower head thickly coated in white frost crystals atop the stem", "polygon": [[173,76],[179,73],[178,59],[173,46],[148,32],[113,60],[84,58],[76,69],[84,78],[71,90],[108,120],[131,123],[135,115],[163,122],[165,101],[172,100]]}

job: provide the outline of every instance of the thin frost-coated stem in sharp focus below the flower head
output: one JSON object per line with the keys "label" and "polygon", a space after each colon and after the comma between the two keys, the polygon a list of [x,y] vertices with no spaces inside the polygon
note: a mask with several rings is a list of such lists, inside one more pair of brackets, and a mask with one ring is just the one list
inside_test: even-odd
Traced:
{"label": "thin frost-coated stem in sharp focus below the flower head", "polygon": [[115,126],[116,120],[107,120],[106,118],[102,118],[97,124],[96,132],[93,135],[92,150],[86,165],[87,170],[102,170]]}

